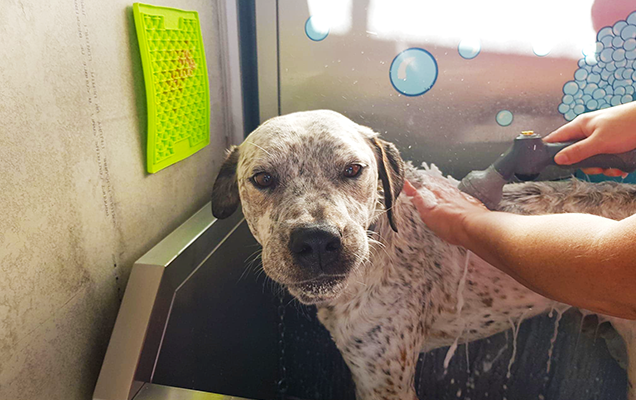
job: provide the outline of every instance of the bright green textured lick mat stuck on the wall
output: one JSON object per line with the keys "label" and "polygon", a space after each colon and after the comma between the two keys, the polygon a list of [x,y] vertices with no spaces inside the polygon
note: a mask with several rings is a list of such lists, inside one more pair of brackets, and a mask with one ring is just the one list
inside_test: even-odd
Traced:
{"label": "bright green textured lick mat stuck on the wall", "polygon": [[210,88],[199,14],[133,4],[148,100],[148,172],[210,143]]}

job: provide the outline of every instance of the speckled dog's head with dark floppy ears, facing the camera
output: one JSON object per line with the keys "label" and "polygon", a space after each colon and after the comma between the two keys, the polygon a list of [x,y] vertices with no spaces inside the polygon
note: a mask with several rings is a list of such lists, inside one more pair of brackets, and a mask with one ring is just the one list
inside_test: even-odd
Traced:
{"label": "speckled dog's head with dark floppy ears, facing the camera", "polygon": [[316,304],[362,267],[367,229],[385,207],[395,229],[390,208],[402,184],[392,144],[333,111],[309,111],[273,118],[231,149],[212,210],[225,218],[240,202],[267,275]]}

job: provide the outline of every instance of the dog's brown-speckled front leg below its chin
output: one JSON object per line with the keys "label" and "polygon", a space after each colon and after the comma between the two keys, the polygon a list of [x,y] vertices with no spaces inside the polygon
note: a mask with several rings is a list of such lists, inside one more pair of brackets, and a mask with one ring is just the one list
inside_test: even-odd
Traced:
{"label": "dog's brown-speckled front leg below its chin", "polygon": [[358,400],[417,400],[415,366],[423,328],[416,318],[393,317],[323,321],[351,370]]}

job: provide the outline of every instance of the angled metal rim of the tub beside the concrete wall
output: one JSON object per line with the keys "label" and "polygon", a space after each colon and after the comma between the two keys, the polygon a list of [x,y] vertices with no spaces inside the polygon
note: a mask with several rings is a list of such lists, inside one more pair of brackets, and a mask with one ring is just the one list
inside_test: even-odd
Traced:
{"label": "angled metal rim of the tub beside the concrete wall", "polygon": [[150,381],[176,287],[241,221],[240,212],[216,220],[208,203],[135,263],[95,387],[95,400],[129,399],[141,384]]}

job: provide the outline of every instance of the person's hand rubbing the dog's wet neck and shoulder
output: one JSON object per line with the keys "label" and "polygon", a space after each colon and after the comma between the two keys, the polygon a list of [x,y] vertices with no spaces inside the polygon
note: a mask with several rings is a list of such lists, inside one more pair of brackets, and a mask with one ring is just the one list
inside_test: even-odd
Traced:
{"label": "person's hand rubbing the dog's wet neck and shoulder", "polygon": [[464,229],[467,218],[490,212],[479,200],[455,187],[425,188],[423,195],[405,180],[403,190],[426,226],[451,244],[464,245],[467,242]]}

